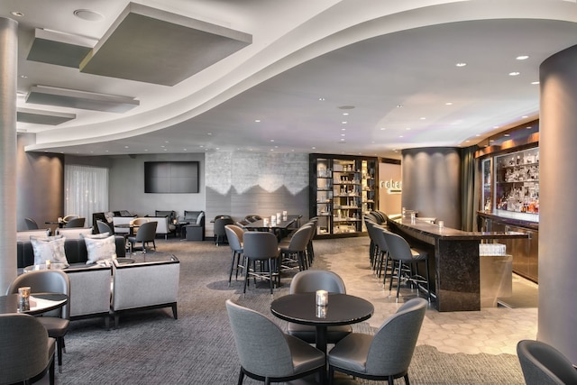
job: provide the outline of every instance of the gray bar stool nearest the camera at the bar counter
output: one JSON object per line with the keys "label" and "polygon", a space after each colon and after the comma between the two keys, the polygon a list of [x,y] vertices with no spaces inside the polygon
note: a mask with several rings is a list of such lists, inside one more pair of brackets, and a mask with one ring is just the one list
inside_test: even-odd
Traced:
{"label": "gray bar stool nearest the camera at the bar counter", "polygon": [[[387,243],[387,249],[389,251],[389,258],[393,261],[393,267],[390,274],[389,282],[389,293],[392,290],[393,279],[397,280],[397,302],[398,302],[398,291],[400,290],[400,281],[406,280],[411,282],[411,284],[426,283],[426,294],[429,303],[431,302],[431,287],[429,280],[429,256],[427,252],[418,250],[416,248],[411,248],[408,242],[402,236],[389,231],[383,231],[385,242]],[[413,274],[413,265],[416,265],[418,261],[425,261],[426,266],[426,277]],[[406,272],[406,276],[402,276],[402,272]],[[397,277],[395,277],[395,272]]]}

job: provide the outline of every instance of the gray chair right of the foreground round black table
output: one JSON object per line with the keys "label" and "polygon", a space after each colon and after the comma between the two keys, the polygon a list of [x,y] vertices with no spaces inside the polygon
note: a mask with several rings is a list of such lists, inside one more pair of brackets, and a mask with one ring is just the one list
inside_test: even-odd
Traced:
{"label": "gray chair right of the foreground round black table", "polygon": [[352,333],[328,353],[329,384],[334,371],[367,380],[404,377],[408,385],[408,366],[413,358],[418,334],[423,325],[428,302],[412,298],[398,308],[372,335]]}

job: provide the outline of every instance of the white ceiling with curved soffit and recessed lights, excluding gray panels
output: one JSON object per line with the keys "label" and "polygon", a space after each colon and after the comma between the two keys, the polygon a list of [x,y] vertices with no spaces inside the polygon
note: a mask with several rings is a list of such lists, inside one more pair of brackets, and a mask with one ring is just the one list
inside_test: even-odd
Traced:
{"label": "white ceiling with curved soffit and recessed lights, excluding gray panels", "polygon": [[[252,43],[171,87],[26,60],[34,29],[99,41],[128,3],[2,1],[0,17],[19,23],[17,105],[76,115],[59,125],[18,123],[19,132],[36,133],[27,150],[398,158],[403,148],[470,146],[536,119],[539,86],[531,83],[540,63],[577,44],[575,0],[142,0],[248,33]],[[78,9],[104,17],[85,21]],[[33,105],[25,95],[34,86],[140,105],[123,114]]]}

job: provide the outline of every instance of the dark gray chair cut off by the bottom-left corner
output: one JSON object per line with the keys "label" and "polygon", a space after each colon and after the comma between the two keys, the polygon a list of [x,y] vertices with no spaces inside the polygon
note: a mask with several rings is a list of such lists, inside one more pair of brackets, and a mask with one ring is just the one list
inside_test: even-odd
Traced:
{"label": "dark gray chair cut off by the bottom-left corner", "polygon": [[29,384],[48,371],[50,385],[54,384],[54,338],[38,319],[0,315],[0,383]]}

